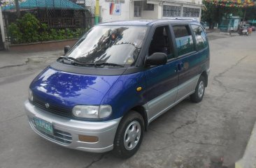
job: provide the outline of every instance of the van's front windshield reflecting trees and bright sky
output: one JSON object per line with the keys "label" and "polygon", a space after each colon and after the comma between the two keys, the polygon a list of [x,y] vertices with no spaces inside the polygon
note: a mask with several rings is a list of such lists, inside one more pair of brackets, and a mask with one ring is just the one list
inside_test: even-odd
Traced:
{"label": "van's front windshield reflecting trees and bright sky", "polygon": [[94,26],[66,56],[80,63],[131,66],[141,51],[146,30],[147,26]]}

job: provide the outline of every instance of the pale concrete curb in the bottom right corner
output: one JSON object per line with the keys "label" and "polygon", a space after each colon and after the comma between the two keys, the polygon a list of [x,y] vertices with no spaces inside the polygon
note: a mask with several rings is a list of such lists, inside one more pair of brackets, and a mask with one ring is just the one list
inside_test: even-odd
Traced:
{"label": "pale concrete curb in the bottom right corner", "polygon": [[237,161],[235,168],[256,168],[256,122],[250,134],[250,139],[243,153],[243,158]]}

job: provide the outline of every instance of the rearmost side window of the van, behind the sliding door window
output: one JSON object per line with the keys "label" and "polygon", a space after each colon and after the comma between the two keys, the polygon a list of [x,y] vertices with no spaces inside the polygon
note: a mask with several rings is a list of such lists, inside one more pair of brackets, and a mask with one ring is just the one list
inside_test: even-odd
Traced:
{"label": "rearmost side window of the van, behind the sliding door window", "polygon": [[201,50],[207,47],[206,42],[206,33],[199,25],[191,24],[192,30],[194,32],[194,36],[197,40],[197,49]]}

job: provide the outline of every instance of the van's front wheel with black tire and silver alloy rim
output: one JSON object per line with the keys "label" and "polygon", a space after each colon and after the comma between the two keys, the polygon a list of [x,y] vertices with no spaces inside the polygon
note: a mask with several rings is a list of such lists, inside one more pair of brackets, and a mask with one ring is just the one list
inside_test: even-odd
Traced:
{"label": "van's front wheel with black tire and silver alloy rim", "polygon": [[130,111],[118,126],[115,134],[113,154],[119,158],[130,158],[138,151],[144,135],[144,120],[138,112]]}

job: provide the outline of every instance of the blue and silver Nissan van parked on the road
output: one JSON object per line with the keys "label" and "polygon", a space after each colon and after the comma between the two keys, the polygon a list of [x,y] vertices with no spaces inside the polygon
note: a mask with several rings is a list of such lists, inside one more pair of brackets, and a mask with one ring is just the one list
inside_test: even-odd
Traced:
{"label": "blue and silver Nissan van parked on the road", "polygon": [[209,45],[192,20],[94,26],[29,86],[31,128],[50,142],[129,158],[158,116],[208,84]]}

